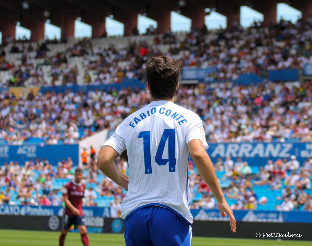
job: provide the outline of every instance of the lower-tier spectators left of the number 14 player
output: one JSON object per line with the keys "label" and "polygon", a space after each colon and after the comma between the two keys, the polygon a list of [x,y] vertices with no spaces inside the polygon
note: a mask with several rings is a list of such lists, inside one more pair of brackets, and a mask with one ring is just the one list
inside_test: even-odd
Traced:
{"label": "lower-tier spectators left of the number 14 player", "polygon": [[[120,158],[116,162],[123,172],[127,171],[125,164],[124,159]],[[55,186],[55,182],[61,180],[69,182],[74,178],[76,168],[70,157],[56,165],[39,158],[30,159],[24,165],[12,161],[5,162],[0,168],[0,205],[5,203],[61,206],[62,189],[61,186]],[[124,197],[121,186],[101,174],[95,161],[90,162],[89,168],[84,170],[82,182],[86,185],[83,199],[85,206],[96,206],[96,199],[99,197],[114,197],[116,204]]]}

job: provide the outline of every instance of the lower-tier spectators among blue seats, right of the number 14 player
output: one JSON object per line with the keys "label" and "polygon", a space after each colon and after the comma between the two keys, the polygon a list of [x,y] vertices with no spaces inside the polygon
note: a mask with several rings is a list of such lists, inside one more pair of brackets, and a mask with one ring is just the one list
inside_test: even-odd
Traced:
{"label": "lower-tier spectators among blue seats, right of the number 14 player", "polygon": [[[190,168],[190,186],[194,199],[191,208],[213,209],[216,200],[201,177]],[[300,165],[295,156],[290,160],[269,160],[265,166],[252,172],[248,162],[231,157],[218,159],[215,164],[219,182],[234,210],[312,211],[312,159]],[[228,185],[222,184],[228,181]],[[194,194],[201,193],[197,200]],[[268,206],[270,205],[271,206]]]}

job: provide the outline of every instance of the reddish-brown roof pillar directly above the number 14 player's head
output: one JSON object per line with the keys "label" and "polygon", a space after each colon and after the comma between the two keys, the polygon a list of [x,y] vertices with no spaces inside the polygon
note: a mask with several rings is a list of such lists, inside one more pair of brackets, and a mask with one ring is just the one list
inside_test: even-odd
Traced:
{"label": "reddish-brown roof pillar directly above the number 14 player's head", "polygon": [[165,33],[171,29],[171,11],[164,7],[149,6],[147,17],[157,21],[157,33]]}

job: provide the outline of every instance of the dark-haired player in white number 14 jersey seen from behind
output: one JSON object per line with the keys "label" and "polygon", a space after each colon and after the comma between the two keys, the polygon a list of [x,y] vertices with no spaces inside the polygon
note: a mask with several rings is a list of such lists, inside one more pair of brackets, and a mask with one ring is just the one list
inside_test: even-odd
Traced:
{"label": "dark-haired player in white number 14 jersey seen from behind", "polygon": [[[97,165],[128,190],[121,206],[125,242],[130,245],[191,245],[193,216],[189,207],[189,155],[215,195],[217,206],[236,231],[236,221],[217,181],[202,120],[173,103],[179,65],[167,56],[146,63],[151,102],[127,117],[105,143]],[[125,149],[129,178],[114,160]]]}

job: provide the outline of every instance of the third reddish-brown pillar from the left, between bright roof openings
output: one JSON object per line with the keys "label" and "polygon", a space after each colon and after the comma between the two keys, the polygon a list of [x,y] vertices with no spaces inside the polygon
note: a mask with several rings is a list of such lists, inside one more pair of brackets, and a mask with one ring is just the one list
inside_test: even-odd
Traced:
{"label": "third reddish-brown pillar from the left, between bright roof openings", "polygon": [[61,28],[61,36],[66,35],[67,38],[75,37],[75,20],[65,15],[53,15],[51,24]]}

